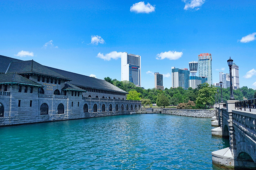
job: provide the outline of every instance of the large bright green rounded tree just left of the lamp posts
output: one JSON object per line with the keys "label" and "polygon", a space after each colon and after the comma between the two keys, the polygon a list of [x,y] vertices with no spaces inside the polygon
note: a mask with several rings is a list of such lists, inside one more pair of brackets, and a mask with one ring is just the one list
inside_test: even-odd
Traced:
{"label": "large bright green rounded tree just left of the lamp posts", "polygon": [[212,85],[209,86],[208,83],[204,83],[201,86],[201,89],[198,91],[198,97],[196,99],[196,105],[204,105],[204,109],[206,109],[206,105],[212,105],[214,103],[214,95],[216,93],[216,88]]}

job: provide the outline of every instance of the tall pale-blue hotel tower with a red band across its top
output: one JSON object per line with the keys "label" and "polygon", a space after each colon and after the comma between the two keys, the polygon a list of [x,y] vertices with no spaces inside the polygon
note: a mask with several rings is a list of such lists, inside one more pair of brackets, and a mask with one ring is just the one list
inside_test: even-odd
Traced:
{"label": "tall pale-blue hotel tower with a red band across its top", "polygon": [[207,77],[208,84],[212,84],[212,54],[198,55],[198,72],[199,77]]}

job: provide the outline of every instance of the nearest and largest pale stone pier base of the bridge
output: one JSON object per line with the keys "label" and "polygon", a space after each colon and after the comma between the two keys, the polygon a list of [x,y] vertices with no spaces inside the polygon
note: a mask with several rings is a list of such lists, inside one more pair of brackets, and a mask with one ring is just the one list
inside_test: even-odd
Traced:
{"label": "nearest and largest pale stone pier base of the bridge", "polygon": [[212,164],[221,169],[256,169],[254,162],[238,160],[234,158],[229,147],[212,152]]}

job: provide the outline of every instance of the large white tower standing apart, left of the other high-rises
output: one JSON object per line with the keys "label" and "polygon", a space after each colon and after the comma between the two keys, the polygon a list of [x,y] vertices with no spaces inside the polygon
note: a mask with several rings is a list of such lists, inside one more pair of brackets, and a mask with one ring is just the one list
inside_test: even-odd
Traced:
{"label": "large white tower standing apart, left of the other high-rises", "polygon": [[141,86],[141,57],[140,55],[122,52],[121,81],[127,80],[136,86]]}

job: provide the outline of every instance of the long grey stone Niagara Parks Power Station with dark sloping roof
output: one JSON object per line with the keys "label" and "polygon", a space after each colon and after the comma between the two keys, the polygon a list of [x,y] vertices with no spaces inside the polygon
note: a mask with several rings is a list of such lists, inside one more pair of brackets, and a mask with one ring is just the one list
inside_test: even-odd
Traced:
{"label": "long grey stone Niagara Parks Power Station with dark sloping roof", "polygon": [[0,126],[129,114],[140,101],[105,80],[0,55]]}

